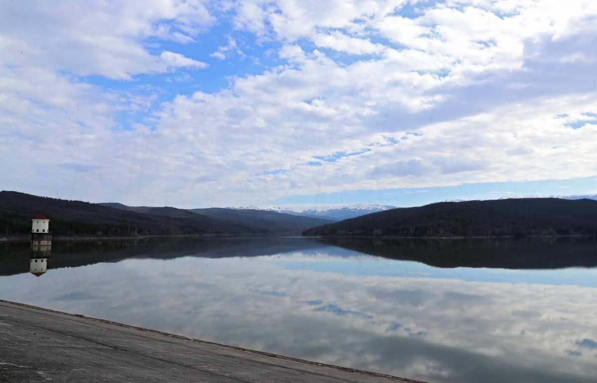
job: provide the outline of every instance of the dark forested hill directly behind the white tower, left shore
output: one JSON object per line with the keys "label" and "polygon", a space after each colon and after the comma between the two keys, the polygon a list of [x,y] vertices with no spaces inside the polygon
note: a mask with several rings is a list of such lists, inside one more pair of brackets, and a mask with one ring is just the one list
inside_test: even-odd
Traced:
{"label": "dark forested hill directly behind the white tower, left shore", "polygon": [[[125,211],[96,203],[0,191],[0,234],[24,234],[38,214],[50,218],[57,236],[135,236],[268,233],[261,227],[238,224],[181,209],[166,208],[161,216]],[[181,210],[184,214],[178,215]]]}

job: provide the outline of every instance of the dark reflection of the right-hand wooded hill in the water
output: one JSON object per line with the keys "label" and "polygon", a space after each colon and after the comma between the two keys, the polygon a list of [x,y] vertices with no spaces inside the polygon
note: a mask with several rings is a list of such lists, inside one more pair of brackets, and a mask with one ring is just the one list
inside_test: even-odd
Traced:
{"label": "dark reflection of the right-hand wooded hill in the water", "polygon": [[596,237],[521,239],[337,238],[330,244],[434,267],[553,269],[597,267]]}

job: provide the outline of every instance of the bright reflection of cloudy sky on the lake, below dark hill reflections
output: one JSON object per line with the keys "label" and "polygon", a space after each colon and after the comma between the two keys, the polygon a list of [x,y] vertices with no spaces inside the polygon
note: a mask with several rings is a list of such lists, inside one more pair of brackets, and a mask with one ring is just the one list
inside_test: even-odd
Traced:
{"label": "bright reflection of cloudy sky on the lake, below dark hill reflections", "polygon": [[524,283],[525,271],[522,283],[401,276],[405,267],[320,249],[131,259],[50,270],[39,289],[26,274],[2,277],[0,288],[13,301],[430,382],[597,376],[597,288]]}

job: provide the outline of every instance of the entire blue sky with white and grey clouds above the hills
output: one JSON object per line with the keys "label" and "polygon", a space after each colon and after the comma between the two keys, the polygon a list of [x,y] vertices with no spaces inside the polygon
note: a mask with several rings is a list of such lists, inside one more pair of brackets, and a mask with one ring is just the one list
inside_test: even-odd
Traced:
{"label": "entire blue sky with white and grey clouds above the hills", "polygon": [[0,2],[0,189],[138,206],[597,193],[590,0]]}

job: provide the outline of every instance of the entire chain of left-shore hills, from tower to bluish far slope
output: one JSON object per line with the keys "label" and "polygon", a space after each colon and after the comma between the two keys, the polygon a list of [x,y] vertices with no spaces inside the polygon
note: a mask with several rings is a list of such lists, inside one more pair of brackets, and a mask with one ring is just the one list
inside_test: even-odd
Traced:
{"label": "entire chain of left-shore hills, from tower to bluish far slope", "polygon": [[32,218],[39,214],[50,218],[50,227],[56,236],[85,237],[291,234],[333,223],[321,218],[251,209],[198,210],[90,203],[0,191],[0,227],[7,236],[29,233]]}

